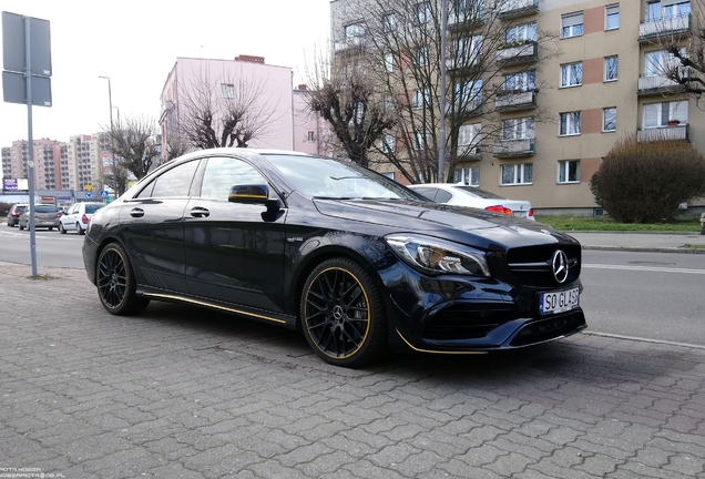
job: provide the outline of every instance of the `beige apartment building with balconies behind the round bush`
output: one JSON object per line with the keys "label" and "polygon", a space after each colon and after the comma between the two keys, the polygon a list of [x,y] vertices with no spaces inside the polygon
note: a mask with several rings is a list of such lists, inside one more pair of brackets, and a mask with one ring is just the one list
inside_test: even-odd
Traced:
{"label": "beige apartment building with balconies behind the round bush", "polygon": [[[365,1],[330,2],[334,51],[351,29],[359,30],[360,19],[346,16],[351,3]],[[589,182],[619,139],[686,141],[705,152],[705,137],[696,133],[705,131],[705,114],[664,78],[662,68],[673,61],[662,40],[675,38],[685,47],[705,13],[692,11],[689,1],[448,3],[449,24],[454,9],[483,3],[484,9],[491,4],[505,31],[505,43],[492,47],[491,75],[502,79],[507,94],[495,95],[491,115],[471,119],[461,129],[472,136],[491,122],[497,134],[482,144],[467,142],[476,154],[457,166],[458,180],[529,200],[543,214],[592,215],[601,211]],[[541,49],[553,53],[542,55]],[[691,206],[705,206],[705,201]]]}

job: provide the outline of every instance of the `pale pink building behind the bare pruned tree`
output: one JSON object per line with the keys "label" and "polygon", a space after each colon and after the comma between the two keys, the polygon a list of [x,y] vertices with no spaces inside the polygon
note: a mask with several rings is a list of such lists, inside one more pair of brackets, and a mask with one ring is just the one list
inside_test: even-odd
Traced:
{"label": "pale pink building behind the bare pruned tree", "polygon": [[[184,140],[178,125],[184,124],[194,102],[211,102],[215,115],[225,104],[246,105],[247,121],[255,131],[247,142],[249,147],[323,154],[319,146],[323,120],[307,112],[305,86],[294,90],[292,81],[290,68],[268,65],[263,57],[177,58],[161,95],[164,151],[168,139]],[[213,124],[221,120],[214,118]]]}

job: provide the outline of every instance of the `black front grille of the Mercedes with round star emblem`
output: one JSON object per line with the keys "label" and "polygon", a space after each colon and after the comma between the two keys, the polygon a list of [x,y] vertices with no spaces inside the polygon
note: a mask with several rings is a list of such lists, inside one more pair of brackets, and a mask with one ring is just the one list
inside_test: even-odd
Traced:
{"label": "black front grille of the Mercedes with round star emblem", "polygon": [[570,284],[578,279],[581,266],[580,245],[541,245],[513,248],[507,253],[507,263],[517,283],[529,287],[558,286],[551,267],[551,258],[556,249],[562,249],[568,256],[569,275],[563,283]]}

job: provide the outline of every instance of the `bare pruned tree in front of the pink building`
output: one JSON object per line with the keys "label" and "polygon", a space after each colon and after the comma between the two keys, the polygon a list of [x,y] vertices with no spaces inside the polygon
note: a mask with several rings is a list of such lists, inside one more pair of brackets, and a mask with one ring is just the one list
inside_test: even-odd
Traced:
{"label": "bare pruned tree in front of the pink building", "polygon": [[247,147],[268,133],[276,104],[267,95],[266,79],[214,78],[202,71],[178,98],[178,134],[194,149]]}

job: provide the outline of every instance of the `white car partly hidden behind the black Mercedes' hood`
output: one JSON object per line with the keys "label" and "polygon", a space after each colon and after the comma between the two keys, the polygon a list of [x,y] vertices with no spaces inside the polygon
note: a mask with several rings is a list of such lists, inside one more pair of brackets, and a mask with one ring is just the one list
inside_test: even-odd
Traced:
{"label": "white car partly hidden behind the black Mercedes' hood", "polygon": [[409,187],[436,203],[471,206],[527,220],[535,220],[530,202],[508,200],[476,186],[452,183],[426,183],[409,185]]}

